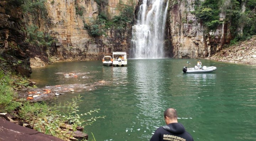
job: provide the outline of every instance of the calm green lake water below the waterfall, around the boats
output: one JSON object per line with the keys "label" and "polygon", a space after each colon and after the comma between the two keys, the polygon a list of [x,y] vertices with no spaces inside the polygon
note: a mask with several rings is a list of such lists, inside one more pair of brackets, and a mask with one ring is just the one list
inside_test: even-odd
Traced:
{"label": "calm green lake water below the waterfall, around the boats", "polygon": [[[101,61],[60,62],[33,69],[39,87],[110,81],[89,92],[60,95],[50,103],[82,96],[80,113],[95,108],[105,115],[86,126],[97,141],[148,141],[164,125],[163,112],[174,107],[195,141],[256,140],[256,66],[201,60],[217,70],[183,74],[185,59],[128,60],[127,67],[102,66]],[[195,59],[190,59],[192,66]],[[86,78],[64,78],[61,73],[85,72]]]}

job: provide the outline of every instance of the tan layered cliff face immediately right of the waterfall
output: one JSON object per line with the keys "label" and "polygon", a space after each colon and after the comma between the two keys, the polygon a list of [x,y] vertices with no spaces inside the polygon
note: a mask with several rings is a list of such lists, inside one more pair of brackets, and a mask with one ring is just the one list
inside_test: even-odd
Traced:
{"label": "tan layered cliff face immediately right of the waterfall", "polygon": [[[224,44],[230,42],[228,24],[222,24],[216,31],[206,33],[196,17],[194,0],[171,2],[166,22],[166,50],[173,58],[204,58],[213,55]],[[220,13],[220,20],[225,15]]]}

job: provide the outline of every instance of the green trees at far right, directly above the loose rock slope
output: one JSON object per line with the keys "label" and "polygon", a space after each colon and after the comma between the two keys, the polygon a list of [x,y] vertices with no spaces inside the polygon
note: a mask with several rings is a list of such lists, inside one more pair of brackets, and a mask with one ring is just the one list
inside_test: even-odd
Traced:
{"label": "green trees at far right, directly above the loose rock slope", "polygon": [[256,34],[256,0],[231,0],[229,4],[223,5],[222,9],[226,13],[225,22],[230,21],[230,32],[233,37],[231,44],[250,39]]}

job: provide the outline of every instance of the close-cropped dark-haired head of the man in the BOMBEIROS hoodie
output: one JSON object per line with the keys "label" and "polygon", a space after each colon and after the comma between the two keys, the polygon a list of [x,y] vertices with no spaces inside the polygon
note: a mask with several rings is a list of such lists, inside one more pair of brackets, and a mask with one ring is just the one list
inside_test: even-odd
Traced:
{"label": "close-cropped dark-haired head of the man in the BOMBEIROS hoodie", "polygon": [[170,124],[170,123],[177,123],[177,113],[174,108],[167,108],[164,111],[164,118],[165,118],[165,123]]}

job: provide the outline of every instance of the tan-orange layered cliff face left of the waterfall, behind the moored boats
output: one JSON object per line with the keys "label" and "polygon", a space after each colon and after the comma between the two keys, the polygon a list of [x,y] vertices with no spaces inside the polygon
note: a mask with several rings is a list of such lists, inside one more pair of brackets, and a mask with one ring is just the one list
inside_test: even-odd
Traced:
{"label": "tan-orange layered cliff face left of the waterfall, behind the moored boats", "polygon": [[[98,5],[95,0],[48,0],[46,5],[48,17],[51,19],[49,33],[57,37],[55,51],[63,59],[102,59],[113,51],[127,51],[129,47],[130,29],[117,36],[115,29],[109,29],[107,36],[91,37],[84,24],[94,20],[100,10],[107,11],[110,18],[118,15],[119,0],[109,0],[107,5]],[[128,0],[123,0],[124,4]],[[80,14],[76,10],[82,8]],[[101,8],[101,9],[99,9]],[[46,23],[44,23],[46,24]],[[45,26],[42,26],[42,28]],[[46,30],[46,29],[42,29]]]}

